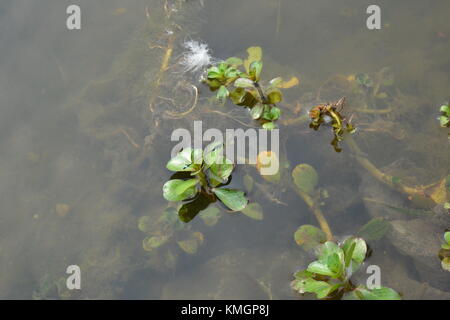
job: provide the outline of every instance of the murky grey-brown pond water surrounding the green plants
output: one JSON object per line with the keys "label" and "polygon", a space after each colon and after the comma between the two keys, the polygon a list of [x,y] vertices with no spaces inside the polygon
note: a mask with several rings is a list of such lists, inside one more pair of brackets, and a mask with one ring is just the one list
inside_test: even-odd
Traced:
{"label": "murky grey-brown pond water surrounding the green plants", "polygon": [[[70,1],[0,4],[0,298],[310,298],[289,287],[314,259],[294,233],[318,225],[292,189],[301,163],[318,173],[313,200],[336,240],[388,222],[354,281],[377,265],[406,299],[450,298],[438,257],[450,152],[437,120],[450,100],[448,1],[378,1],[381,30],[367,29],[361,0],[77,2],[81,30],[66,28]],[[279,104],[281,179],[233,172],[263,219],[216,202],[217,222],[161,223],[176,208],[162,195],[173,130],[258,126],[182,72],[190,39],[216,59],[260,46],[265,80],[299,79]],[[302,119],[343,96],[358,129],[337,153],[331,129]],[[155,234],[168,239],[144,250]],[[81,290],[66,287],[69,265]]]}

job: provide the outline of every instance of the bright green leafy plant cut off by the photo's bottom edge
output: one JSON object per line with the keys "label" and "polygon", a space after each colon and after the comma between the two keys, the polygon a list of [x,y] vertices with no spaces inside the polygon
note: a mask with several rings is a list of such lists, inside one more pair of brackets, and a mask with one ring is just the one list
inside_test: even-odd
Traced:
{"label": "bright green leafy plant cut off by the photo's bottom edge", "polygon": [[327,241],[317,247],[317,260],[294,274],[291,288],[301,294],[316,294],[318,299],[401,299],[390,288],[369,289],[352,283],[351,277],[360,269],[366,254],[367,245],[362,238],[349,237],[341,244]]}

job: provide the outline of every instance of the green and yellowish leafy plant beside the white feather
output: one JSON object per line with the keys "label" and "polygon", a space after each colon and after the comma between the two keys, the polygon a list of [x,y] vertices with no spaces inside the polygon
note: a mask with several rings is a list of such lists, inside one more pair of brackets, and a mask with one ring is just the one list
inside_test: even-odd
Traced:
{"label": "green and yellowish leafy plant beside the white feather", "polygon": [[277,77],[261,85],[262,50],[250,47],[247,52],[246,60],[231,57],[208,68],[205,83],[212,91],[217,91],[219,102],[225,103],[230,98],[235,105],[249,108],[251,117],[271,130],[281,115],[277,107],[283,99],[280,89],[297,85],[298,79],[284,82]]}

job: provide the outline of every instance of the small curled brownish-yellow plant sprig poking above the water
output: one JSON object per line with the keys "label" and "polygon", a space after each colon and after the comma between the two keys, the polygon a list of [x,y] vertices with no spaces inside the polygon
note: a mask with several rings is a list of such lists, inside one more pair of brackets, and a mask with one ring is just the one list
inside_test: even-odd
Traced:
{"label": "small curled brownish-yellow plant sprig poking above the water", "polygon": [[344,104],[345,97],[337,102],[317,105],[309,111],[309,117],[311,119],[311,123],[309,124],[310,128],[317,131],[322,124],[331,124],[334,134],[331,145],[336,152],[342,151],[339,147],[339,142],[344,139],[344,135],[356,131],[356,128],[353,127],[350,121],[346,121],[340,111],[338,111],[338,109],[342,110]]}

